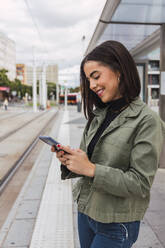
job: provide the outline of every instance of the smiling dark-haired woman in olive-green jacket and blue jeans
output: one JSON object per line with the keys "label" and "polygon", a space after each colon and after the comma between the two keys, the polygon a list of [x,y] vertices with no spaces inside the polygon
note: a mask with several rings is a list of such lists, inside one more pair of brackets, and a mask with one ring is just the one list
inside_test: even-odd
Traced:
{"label": "smiling dark-haired woman in olive-green jacket and blue jeans", "polygon": [[62,179],[81,177],[73,190],[81,248],[130,248],[149,204],[163,122],[139,98],[136,65],[117,41],[83,59],[81,92],[88,123],[80,149],[56,152]]}

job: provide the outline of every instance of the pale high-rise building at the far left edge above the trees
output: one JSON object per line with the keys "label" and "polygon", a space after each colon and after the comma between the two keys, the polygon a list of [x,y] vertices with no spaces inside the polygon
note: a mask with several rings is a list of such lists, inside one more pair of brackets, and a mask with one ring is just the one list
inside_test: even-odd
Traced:
{"label": "pale high-rise building at the far left edge above the trees", "polygon": [[16,78],[16,46],[15,42],[0,32],[0,69],[8,70],[8,78]]}

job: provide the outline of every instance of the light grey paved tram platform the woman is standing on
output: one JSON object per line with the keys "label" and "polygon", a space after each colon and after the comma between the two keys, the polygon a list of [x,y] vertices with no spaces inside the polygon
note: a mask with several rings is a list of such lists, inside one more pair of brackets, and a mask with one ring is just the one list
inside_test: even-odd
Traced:
{"label": "light grey paved tram platform the woman is standing on", "polygon": [[[65,111],[61,110],[60,128],[57,130],[55,126],[52,127],[50,135],[62,144],[76,148],[85,123],[76,107],[68,107]],[[164,158],[161,161],[163,165]],[[0,230],[0,247],[80,248],[76,205],[71,193],[75,180],[60,180],[60,164],[45,144]],[[134,248],[165,247],[164,209],[165,170],[160,168]]]}

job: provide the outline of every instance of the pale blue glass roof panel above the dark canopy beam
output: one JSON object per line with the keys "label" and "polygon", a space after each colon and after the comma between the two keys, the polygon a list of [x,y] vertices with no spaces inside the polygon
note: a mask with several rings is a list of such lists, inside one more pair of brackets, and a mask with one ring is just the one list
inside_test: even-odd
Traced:
{"label": "pale blue glass roof panel above the dark canopy beam", "polygon": [[122,0],[112,21],[165,23],[165,0]]}

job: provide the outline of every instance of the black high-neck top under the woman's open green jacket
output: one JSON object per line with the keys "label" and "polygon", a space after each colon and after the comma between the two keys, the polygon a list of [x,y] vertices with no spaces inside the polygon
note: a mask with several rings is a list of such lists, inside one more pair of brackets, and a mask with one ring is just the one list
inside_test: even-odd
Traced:
{"label": "black high-neck top under the woman's open green jacket", "polygon": [[100,136],[104,132],[104,130],[110,125],[110,123],[124,110],[128,103],[124,98],[120,98],[114,101],[108,102],[106,105],[109,105],[104,121],[101,126],[97,129],[96,134],[93,139],[89,143],[87,154],[90,159],[94,150],[96,143],[98,142]]}

